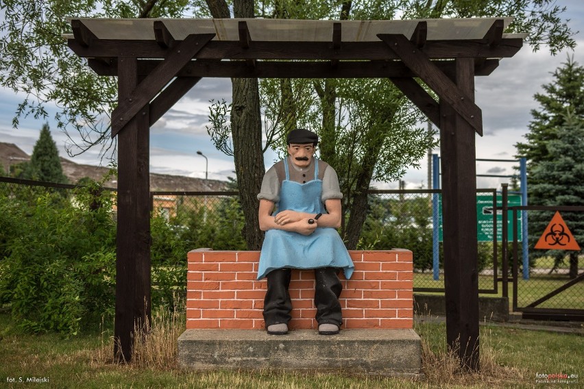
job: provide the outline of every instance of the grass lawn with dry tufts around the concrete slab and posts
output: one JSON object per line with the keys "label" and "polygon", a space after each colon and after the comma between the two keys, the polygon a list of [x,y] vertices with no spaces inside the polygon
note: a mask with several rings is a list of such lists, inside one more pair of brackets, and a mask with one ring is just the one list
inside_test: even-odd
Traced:
{"label": "grass lawn with dry tufts around the concrete slab and posts", "polygon": [[[180,320],[177,323],[184,323]],[[156,327],[156,322],[153,325]],[[173,332],[175,336],[184,325]],[[110,330],[64,338],[56,334],[17,334],[0,314],[0,386],[8,388],[532,388],[536,373],[584,373],[584,337],[503,327],[481,326],[480,374],[457,373],[457,361],[446,353],[446,327],[421,323],[416,331],[424,349],[423,379],[351,376],[350,373],[281,373],[249,371],[183,371],[173,360],[122,366],[108,362]],[[156,367],[153,367],[156,366]],[[19,383],[47,377],[47,383]],[[14,380],[14,382],[9,382]],[[568,385],[576,388],[583,384]],[[545,387],[545,386],[544,386]]]}

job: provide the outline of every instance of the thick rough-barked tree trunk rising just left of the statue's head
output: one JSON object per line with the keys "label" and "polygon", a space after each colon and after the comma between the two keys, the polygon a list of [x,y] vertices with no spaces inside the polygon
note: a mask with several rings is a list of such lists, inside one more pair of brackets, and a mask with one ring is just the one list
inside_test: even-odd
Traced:
{"label": "thick rough-barked tree trunk rising just left of the statue's head", "polygon": [[[206,0],[214,18],[230,18],[225,0]],[[253,0],[233,2],[235,18],[253,18]],[[263,233],[258,221],[260,192],[265,174],[262,148],[262,122],[260,116],[260,97],[258,79],[232,78],[231,136],[235,173],[241,208],[245,218],[243,237],[247,249],[258,250],[262,247]]]}

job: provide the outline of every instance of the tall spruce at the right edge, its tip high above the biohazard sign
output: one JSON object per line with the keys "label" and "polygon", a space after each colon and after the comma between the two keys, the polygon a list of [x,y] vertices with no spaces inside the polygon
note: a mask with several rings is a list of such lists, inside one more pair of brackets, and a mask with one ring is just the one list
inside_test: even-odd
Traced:
{"label": "tall spruce at the right edge, its tip high above the biohazard sign", "polygon": [[[550,84],[543,86],[545,93],[537,93],[535,101],[539,110],[532,110],[533,120],[525,135],[526,142],[515,145],[518,154],[525,157],[527,164],[528,197],[530,205],[581,205],[583,202],[581,181],[578,181],[579,164],[582,156],[574,155],[581,147],[584,123],[584,67],[568,57],[553,73]],[[566,142],[574,140],[570,145]],[[568,177],[571,175],[570,177]],[[565,221],[577,226],[584,222],[584,216],[576,213],[565,214]],[[542,231],[551,220],[549,212],[529,214],[529,240],[535,244]],[[568,221],[569,220],[569,221]],[[582,241],[582,238],[576,238]],[[565,256],[563,251],[546,251],[559,266]],[[534,258],[542,256],[541,251],[531,251]],[[570,252],[570,277],[578,272],[578,252]]]}

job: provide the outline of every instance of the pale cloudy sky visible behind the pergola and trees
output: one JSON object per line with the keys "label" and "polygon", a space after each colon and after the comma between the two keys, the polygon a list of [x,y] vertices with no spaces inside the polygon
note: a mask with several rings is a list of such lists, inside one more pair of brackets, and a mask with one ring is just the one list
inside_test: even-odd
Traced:
{"label": "pale cloudy sky visible behind the pergola and trees", "polygon": [[[475,78],[475,102],[483,112],[482,137],[476,136],[476,158],[512,160],[515,159],[515,144],[524,141],[524,134],[531,121],[531,110],[538,104],[533,95],[542,92],[542,85],[552,81],[552,73],[573,55],[576,62],[584,64],[584,1],[557,0],[557,5],[568,10],[564,18],[568,25],[578,32],[574,38],[577,47],[550,55],[546,47],[533,52],[524,45],[512,58],[503,58],[496,70],[487,77]],[[0,142],[14,143],[26,153],[32,153],[38,139],[42,119],[23,118],[18,129],[12,128],[12,118],[24,95],[0,88]],[[215,149],[206,131],[208,125],[209,101],[231,99],[230,79],[202,79],[178,103],[174,105],[153,127],[150,135],[150,171],[173,175],[226,180],[234,177],[233,158]],[[56,109],[48,106],[49,114]],[[108,161],[99,157],[99,148],[90,149],[81,155],[69,157],[65,150],[66,134],[57,129],[53,117],[48,118],[51,135],[56,141],[60,155],[79,164],[107,165]],[[426,127],[426,123],[420,124]],[[201,151],[208,158],[197,154]],[[440,153],[434,149],[433,153]],[[266,167],[276,161],[276,155],[264,155]],[[402,179],[406,188],[427,188],[427,159],[420,161],[420,168],[409,168]],[[515,162],[476,162],[477,174],[511,175]],[[509,182],[507,177],[477,177],[478,188],[500,188]],[[379,189],[396,189],[397,182],[375,183]]]}

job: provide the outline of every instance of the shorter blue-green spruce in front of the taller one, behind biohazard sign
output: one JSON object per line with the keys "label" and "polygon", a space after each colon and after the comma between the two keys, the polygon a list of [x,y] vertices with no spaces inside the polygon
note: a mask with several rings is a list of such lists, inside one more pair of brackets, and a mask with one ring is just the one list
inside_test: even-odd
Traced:
{"label": "shorter blue-green spruce in front of the taller one, behind biohazard sign", "polygon": [[[582,88],[582,86],[581,86]],[[531,205],[582,205],[584,203],[584,117],[576,116],[566,108],[560,127],[555,129],[555,139],[544,143],[548,158],[533,163],[528,175],[529,201]],[[539,238],[546,223],[551,220],[549,212],[530,214],[530,224]],[[576,242],[584,242],[584,212],[562,212],[562,217],[574,235]],[[539,234],[538,234],[539,233]],[[569,251],[569,277],[578,276],[578,255],[581,251]],[[565,251],[546,252],[553,255],[556,264],[563,260]]]}

